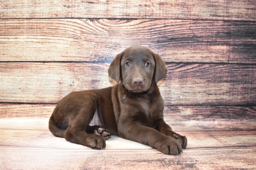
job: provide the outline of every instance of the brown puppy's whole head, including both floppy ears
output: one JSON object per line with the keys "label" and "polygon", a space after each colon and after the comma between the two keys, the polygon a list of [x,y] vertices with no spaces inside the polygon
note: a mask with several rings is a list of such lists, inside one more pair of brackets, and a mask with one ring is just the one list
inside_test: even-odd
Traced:
{"label": "brown puppy's whole head, including both floppy ears", "polygon": [[109,76],[121,81],[131,93],[145,93],[152,83],[166,75],[164,61],[146,47],[136,45],[118,54],[108,69]]}

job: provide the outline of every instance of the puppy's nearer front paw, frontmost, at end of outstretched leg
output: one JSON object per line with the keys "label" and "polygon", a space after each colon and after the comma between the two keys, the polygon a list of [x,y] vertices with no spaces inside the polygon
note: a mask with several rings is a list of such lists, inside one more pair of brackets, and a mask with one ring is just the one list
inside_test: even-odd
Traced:
{"label": "puppy's nearer front paw, frontmost, at end of outstretched leg", "polygon": [[166,155],[178,155],[182,152],[182,146],[173,137],[166,137],[166,139],[156,141],[154,148]]}

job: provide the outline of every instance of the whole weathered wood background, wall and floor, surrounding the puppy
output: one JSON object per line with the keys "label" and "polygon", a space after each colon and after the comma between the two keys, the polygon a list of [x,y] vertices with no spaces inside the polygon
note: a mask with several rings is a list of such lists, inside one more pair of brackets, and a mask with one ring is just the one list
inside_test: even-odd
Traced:
{"label": "whole weathered wood background, wall and floor, surrounding the puppy", "polygon": [[[166,62],[165,120],[188,149],[53,137],[58,101],[112,86],[109,64],[136,44]],[[0,75],[1,169],[256,169],[256,1],[3,0]]]}

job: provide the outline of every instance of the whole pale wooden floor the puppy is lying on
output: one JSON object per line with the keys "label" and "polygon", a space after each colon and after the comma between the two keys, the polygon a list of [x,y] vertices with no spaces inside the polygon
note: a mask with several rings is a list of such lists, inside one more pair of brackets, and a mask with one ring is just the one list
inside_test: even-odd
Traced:
{"label": "whole pale wooden floor the puppy is lying on", "polygon": [[188,148],[173,156],[117,136],[105,150],[68,143],[49,132],[46,118],[0,121],[0,169],[256,169],[256,130],[179,132],[186,123],[176,123]]}

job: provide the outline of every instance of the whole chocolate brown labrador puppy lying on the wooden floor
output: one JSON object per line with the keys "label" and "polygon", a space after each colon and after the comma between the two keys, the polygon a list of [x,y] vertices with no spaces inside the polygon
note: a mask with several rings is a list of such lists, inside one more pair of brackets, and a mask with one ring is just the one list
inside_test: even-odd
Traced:
{"label": "whole chocolate brown labrador puppy lying on the wooden floor", "polygon": [[49,129],[57,137],[95,149],[105,148],[113,134],[177,155],[186,148],[187,139],[163,120],[157,82],[166,72],[158,54],[142,46],[129,47],[108,69],[118,84],[70,93],[54,109]]}

